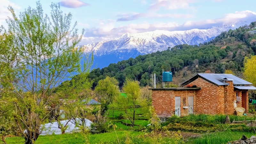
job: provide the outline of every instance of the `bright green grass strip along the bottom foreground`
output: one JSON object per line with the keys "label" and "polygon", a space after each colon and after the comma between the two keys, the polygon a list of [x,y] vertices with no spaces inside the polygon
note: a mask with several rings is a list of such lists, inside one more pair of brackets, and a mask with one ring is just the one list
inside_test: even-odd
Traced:
{"label": "bright green grass strip along the bottom foreground", "polygon": [[[117,134],[117,136],[116,136]],[[250,132],[234,132],[234,131],[224,131],[216,133],[204,133],[201,137],[189,138],[185,141],[185,144],[222,144],[228,143],[234,140],[239,140],[243,134],[250,138],[255,133]],[[134,143],[134,144],[150,144],[154,139],[148,138],[145,133],[136,131],[117,131],[101,134],[61,134],[61,135],[48,135],[39,136],[35,144],[116,144],[118,140],[120,143]],[[10,137],[6,138],[8,144],[23,144],[24,138],[21,137]],[[158,140],[159,143],[175,143],[177,142],[175,138],[163,137]]]}

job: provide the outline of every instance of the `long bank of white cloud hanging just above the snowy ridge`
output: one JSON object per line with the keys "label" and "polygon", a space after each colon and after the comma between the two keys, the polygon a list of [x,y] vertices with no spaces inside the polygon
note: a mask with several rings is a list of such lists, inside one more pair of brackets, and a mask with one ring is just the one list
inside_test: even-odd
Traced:
{"label": "long bank of white cloud hanging just above the snowy ridge", "polygon": [[203,21],[186,21],[184,24],[175,22],[168,23],[148,23],[142,22],[140,24],[129,24],[125,26],[115,27],[116,21],[108,20],[99,22],[98,28],[90,28],[86,30],[82,44],[90,44],[99,41],[111,40],[118,38],[125,33],[142,33],[154,30],[189,30],[193,28],[210,28],[212,26],[219,26],[225,22],[234,22],[239,20],[255,21],[256,13],[252,11],[236,11],[228,13],[223,18],[207,19]]}

